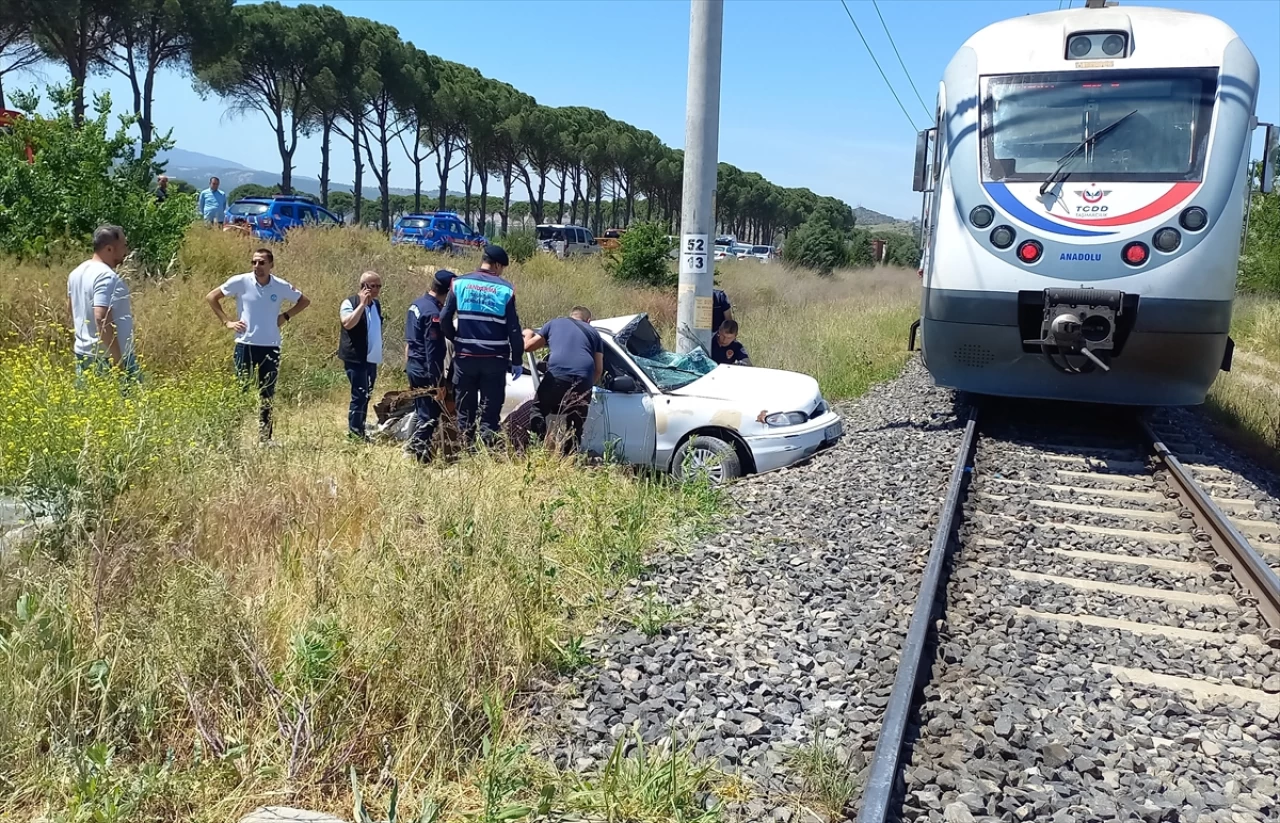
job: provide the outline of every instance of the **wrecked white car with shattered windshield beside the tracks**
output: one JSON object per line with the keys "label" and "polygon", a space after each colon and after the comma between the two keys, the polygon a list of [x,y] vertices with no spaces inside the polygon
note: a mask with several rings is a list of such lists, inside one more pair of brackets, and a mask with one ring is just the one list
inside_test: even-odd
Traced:
{"label": "wrecked white car with shattered windshield beside the tracks", "polygon": [[[676,355],[644,314],[591,325],[604,342],[604,378],[582,431],[589,454],[722,484],[797,463],[844,434],[809,375],[717,365],[701,349]],[[526,366],[522,376],[507,378],[508,427],[527,420],[538,392],[539,364],[526,356]],[[394,436],[411,431],[412,422],[399,422]]]}

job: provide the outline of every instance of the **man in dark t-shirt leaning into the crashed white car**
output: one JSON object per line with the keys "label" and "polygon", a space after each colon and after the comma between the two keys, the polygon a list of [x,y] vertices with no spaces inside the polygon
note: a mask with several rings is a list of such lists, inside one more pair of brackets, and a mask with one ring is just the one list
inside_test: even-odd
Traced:
{"label": "man in dark t-shirt leaning into the crashed white car", "polygon": [[538,384],[538,403],[529,421],[529,430],[547,436],[547,419],[564,415],[571,436],[561,447],[570,453],[582,442],[582,427],[591,404],[591,387],[604,374],[604,342],[591,328],[591,312],[573,306],[567,317],[556,317],[534,332],[525,330],[525,351],[550,346],[547,374]]}

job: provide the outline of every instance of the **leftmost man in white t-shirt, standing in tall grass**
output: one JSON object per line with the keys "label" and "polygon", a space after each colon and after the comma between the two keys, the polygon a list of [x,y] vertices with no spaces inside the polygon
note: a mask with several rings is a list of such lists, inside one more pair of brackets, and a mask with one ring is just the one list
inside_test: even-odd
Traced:
{"label": "leftmost man in white t-shirt, standing in tall grass", "polygon": [[100,225],[93,232],[93,256],[67,278],[67,298],[76,329],[77,374],[114,366],[137,376],[133,302],[128,284],[115,271],[128,255],[124,229]]}

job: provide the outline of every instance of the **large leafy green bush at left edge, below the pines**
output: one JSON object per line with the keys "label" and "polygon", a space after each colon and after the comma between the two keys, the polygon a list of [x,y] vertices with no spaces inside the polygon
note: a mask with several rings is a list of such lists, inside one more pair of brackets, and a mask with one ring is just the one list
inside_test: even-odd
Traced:
{"label": "large leafy green bush at left edge, below the pines", "polygon": [[138,147],[128,131],[132,118],[110,132],[106,95],[95,97],[93,115],[76,128],[70,92],[50,87],[47,93],[49,118],[36,114],[36,95],[14,95],[24,116],[0,136],[0,251],[18,257],[87,251],[93,229],[114,223],[145,271],[166,270],[196,212],[191,195],[172,192],[156,204],[148,191],[156,152],[172,141]]}

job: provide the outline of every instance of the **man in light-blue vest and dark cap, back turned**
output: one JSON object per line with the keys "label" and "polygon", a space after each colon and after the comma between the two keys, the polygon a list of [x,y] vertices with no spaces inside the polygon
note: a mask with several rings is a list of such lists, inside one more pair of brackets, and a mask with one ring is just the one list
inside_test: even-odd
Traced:
{"label": "man in light-blue vest and dark cap, back turned", "polygon": [[463,443],[475,438],[477,413],[481,438],[493,440],[499,431],[507,372],[512,379],[524,372],[525,335],[516,314],[516,287],[502,276],[507,265],[502,246],[485,246],[480,269],[453,280],[440,312],[444,335],[453,342],[453,389]]}

